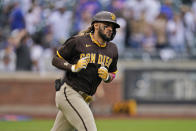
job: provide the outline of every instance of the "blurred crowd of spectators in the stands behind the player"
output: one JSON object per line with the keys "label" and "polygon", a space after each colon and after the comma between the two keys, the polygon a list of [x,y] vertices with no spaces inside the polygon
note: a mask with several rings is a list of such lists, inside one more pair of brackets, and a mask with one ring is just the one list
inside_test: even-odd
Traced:
{"label": "blurred crowd of spectators in the stands behind the player", "polygon": [[55,70],[51,58],[101,10],[121,28],[120,58],[170,60],[196,54],[196,0],[2,0],[0,71]]}

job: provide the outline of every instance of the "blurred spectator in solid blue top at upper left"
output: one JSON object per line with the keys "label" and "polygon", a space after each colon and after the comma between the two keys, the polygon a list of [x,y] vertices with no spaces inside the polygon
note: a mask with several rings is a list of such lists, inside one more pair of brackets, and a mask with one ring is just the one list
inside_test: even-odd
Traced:
{"label": "blurred spectator in solid blue top at upper left", "polygon": [[18,2],[13,2],[13,9],[10,14],[10,29],[24,29],[25,28],[25,18],[22,9]]}

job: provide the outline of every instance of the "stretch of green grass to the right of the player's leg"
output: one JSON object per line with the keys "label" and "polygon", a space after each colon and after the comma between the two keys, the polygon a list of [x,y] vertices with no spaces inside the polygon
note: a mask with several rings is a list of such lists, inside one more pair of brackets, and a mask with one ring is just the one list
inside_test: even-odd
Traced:
{"label": "stretch of green grass to the right of the player's leg", "polygon": [[97,121],[100,131],[196,131],[196,120]]}

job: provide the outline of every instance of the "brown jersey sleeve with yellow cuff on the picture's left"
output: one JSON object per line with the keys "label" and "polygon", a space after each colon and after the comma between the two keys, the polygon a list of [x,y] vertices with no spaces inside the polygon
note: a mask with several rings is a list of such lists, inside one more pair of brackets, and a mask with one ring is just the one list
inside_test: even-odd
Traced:
{"label": "brown jersey sleeve with yellow cuff on the picture's left", "polygon": [[76,42],[73,38],[67,40],[63,44],[63,46],[60,47],[59,50],[57,50],[58,57],[63,58],[65,60],[67,60],[68,62],[70,62],[70,60],[73,57],[74,52],[75,52],[75,46],[76,46]]}

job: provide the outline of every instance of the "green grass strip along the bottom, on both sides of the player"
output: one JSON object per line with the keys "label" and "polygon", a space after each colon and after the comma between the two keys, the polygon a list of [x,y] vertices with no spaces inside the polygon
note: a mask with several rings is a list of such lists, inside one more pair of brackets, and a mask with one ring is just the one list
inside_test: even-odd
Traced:
{"label": "green grass strip along the bottom, on both sides of the player", "polygon": [[[53,120],[0,121],[0,131],[50,131]],[[196,131],[196,120],[98,119],[98,131]]]}

